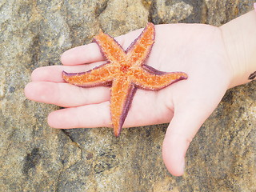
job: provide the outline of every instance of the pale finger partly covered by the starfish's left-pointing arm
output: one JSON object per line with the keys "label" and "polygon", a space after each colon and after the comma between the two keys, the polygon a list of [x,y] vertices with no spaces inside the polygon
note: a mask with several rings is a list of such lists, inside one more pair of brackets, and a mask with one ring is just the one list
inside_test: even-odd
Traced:
{"label": "pale finger partly covered by the starfish's left-pointing arm", "polygon": [[95,66],[100,66],[105,62],[94,62],[90,65],[79,66],[43,66],[35,69],[31,74],[33,82],[64,82],[62,78],[62,71],[68,73],[79,73],[91,70]]}

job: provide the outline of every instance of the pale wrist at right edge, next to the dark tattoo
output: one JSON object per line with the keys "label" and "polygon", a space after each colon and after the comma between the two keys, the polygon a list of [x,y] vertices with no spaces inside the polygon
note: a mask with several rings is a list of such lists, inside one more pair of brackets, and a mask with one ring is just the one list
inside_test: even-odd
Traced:
{"label": "pale wrist at right edge, next to the dark tattoo", "polygon": [[230,87],[250,82],[256,71],[256,11],[250,11],[219,27],[230,60]]}

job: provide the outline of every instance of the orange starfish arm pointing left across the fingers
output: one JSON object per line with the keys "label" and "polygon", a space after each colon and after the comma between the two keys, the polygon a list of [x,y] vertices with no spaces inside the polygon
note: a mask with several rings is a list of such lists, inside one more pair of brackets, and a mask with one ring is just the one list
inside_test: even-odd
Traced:
{"label": "orange starfish arm pointing left across the fingers", "polygon": [[65,82],[82,87],[108,86],[113,79],[113,75],[114,69],[110,63],[97,66],[92,70],[82,73],[62,72],[62,78]]}

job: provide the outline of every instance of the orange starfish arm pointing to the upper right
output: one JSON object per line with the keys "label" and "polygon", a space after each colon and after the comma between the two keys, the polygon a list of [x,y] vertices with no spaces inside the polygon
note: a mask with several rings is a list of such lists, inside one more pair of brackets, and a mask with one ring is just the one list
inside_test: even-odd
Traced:
{"label": "orange starfish arm pointing to the upper right", "polygon": [[146,62],[154,44],[154,35],[154,24],[149,22],[142,34],[126,50],[130,63],[142,66]]}

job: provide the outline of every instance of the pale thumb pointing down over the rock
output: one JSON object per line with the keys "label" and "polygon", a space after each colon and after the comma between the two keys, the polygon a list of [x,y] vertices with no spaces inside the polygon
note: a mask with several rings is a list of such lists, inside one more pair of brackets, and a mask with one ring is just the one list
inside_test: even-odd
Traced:
{"label": "pale thumb pointing down over the rock", "polygon": [[[200,107],[201,106],[201,107]],[[185,168],[185,156],[190,142],[202,123],[210,116],[202,105],[186,106],[174,111],[162,145],[162,158],[167,170],[181,176]]]}

